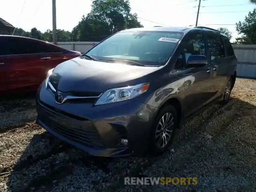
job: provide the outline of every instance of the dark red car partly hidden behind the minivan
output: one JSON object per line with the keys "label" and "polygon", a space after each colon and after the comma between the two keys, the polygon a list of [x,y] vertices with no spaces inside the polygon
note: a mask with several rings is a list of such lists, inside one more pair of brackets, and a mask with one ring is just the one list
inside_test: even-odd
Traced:
{"label": "dark red car partly hidden behind the minivan", "polygon": [[41,40],[0,35],[0,96],[36,91],[49,69],[80,55]]}

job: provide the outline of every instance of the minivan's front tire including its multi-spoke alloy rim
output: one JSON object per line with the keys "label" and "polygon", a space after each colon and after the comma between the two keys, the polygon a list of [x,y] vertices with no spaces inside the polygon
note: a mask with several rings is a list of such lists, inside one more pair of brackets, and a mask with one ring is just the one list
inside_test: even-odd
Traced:
{"label": "minivan's front tire including its multi-spoke alloy rim", "polygon": [[[161,126],[164,122],[166,123],[165,126]],[[174,106],[167,105],[160,109],[150,132],[150,154],[157,156],[168,150],[178,126],[177,122],[177,112]]]}

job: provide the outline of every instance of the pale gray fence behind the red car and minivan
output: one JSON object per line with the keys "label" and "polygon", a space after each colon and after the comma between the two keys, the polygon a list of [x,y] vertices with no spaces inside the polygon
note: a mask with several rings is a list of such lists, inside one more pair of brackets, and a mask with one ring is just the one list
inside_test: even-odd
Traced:
{"label": "pale gray fence behind the red car and minivan", "polygon": [[[82,53],[98,42],[58,42],[58,46]],[[232,45],[238,59],[237,76],[256,79],[256,45]]]}

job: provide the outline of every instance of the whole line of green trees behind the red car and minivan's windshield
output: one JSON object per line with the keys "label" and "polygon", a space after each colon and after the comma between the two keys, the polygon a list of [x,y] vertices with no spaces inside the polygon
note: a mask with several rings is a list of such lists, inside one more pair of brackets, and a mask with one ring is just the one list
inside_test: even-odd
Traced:
{"label": "whole line of green trees behind the red car and minivan's windshield", "polygon": [[[82,16],[81,21],[73,28],[72,32],[57,29],[57,41],[98,42],[120,30],[143,27],[138,21],[137,14],[131,14],[130,11],[128,0],[94,0],[91,12]],[[8,32],[8,34],[12,35],[12,32]],[[50,29],[42,33],[36,28],[32,28],[30,32],[16,28],[14,35],[48,42],[52,42],[53,39]]]}

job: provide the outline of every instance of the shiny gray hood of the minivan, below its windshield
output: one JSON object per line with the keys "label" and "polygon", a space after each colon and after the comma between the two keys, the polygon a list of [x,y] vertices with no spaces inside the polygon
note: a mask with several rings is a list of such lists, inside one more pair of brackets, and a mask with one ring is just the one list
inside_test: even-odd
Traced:
{"label": "shiny gray hood of the minivan, below its windshield", "polygon": [[104,92],[110,88],[144,83],[145,75],[158,69],[74,58],[56,66],[50,79],[62,92]]}

